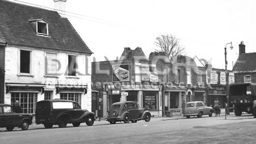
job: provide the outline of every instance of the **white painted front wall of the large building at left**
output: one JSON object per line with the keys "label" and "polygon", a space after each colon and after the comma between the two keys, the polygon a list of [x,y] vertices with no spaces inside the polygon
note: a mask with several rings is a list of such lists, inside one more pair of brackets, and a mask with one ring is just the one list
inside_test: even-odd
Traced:
{"label": "white painted front wall of the large building at left", "polygon": [[[31,50],[31,75],[20,75],[19,63],[20,63],[20,49]],[[60,61],[60,73],[58,77],[46,77],[45,75],[45,56],[47,52],[57,53],[57,60]],[[77,56],[77,71],[82,75],[77,75],[77,77],[67,77],[65,71],[68,65],[68,55]],[[86,58],[88,57],[88,58]],[[81,96],[81,107],[83,109],[88,109],[91,111],[92,108],[92,90],[91,90],[91,65],[90,65],[90,55],[81,53],[72,53],[64,51],[54,51],[36,48],[26,48],[19,46],[6,46],[6,59],[5,59],[5,82],[6,83],[36,83],[36,84],[87,84],[87,94],[82,94]],[[86,63],[88,67],[86,67]],[[89,75],[85,75],[88,71]],[[53,91],[53,99],[60,98],[60,95],[56,95],[55,86],[46,87],[46,90]],[[44,94],[39,92],[38,100],[43,100]],[[11,103],[10,93],[5,94],[5,103]]]}

